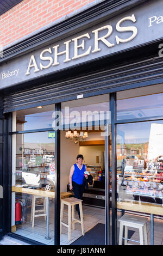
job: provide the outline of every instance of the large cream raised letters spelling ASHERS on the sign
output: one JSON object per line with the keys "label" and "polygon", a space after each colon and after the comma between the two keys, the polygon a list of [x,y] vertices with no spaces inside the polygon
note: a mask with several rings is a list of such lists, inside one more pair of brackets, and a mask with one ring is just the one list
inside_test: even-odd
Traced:
{"label": "large cream raised letters spelling ASHERS on the sign", "polygon": [[[122,33],[123,32],[132,32],[132,35],[126,39],[122,39],[118,35],[116,35],[115,39],[116,39],[117,45],[119,45],[120,43],[129,42],[129,41],[133,40],[137,35],[137,28],[135,26],[127,26],[127,27],[122,26],[121,27],[121,25],[124,21],[131,21],[133,23],[136,22],[135,15],[133,14],[131,16],[124,17],[123,19],[121,19],[120,21],[117,22],[117,24],[116,24],[117,32],[122,32]],[[106,31],[106,33],[103,36],[100,36],[99,33],[101,31],[104,31],[104,32]],[[85,47],[86,42],[89,42],[89,40],[91,39],[91,36],[89,33],[85,33],[83,35],[77,36],[76,38],[73,38],[71,40],[63,42],[63,44],[65,45],[64,51],[61,51],[61,52],[59,51],[59,48],[60,48],[59,44],[54,45],[52,48],[49,47],[40,53],[40,60],[42,60],[42,62],[40,62],[40,60],[37,60],[37,62],[36,62],[36,57],[33,54],[30,57],[26,75],[30,75],[30,70],[32,68],[33,68],[34,72],[39,72],[42,69],[48,69],[50,66],[59,65],[60,62],[58,61],[58,56],[60,56],[62,54],[65,54],[65,60],[63,60],[63,62],[65,63],[65,62],[70,62],[74,59],[82,58],[84,56],[89,55],[90,53],[99,52],[102,50],[99,47],[99,42],[102,42],[108,48],[114,47],[115,44],[113,42],[111,42],[111,40],[110,41],[108,40],[109,36],[112,34],[112,31],[113,31],[113,28],[111,25],[105,25],[103,27],[93,30],[92,36],[94,38],[94,40],[93,40],[94,45],[87,46],[87,48]],[[81,40],[81,39],[82,39],[82,43],[79,42],[79,40]],[[72,58],[70,58],[70,44],[73,44],[73,47],[74,47],[74,51],[73,51],[74,56]],[[80,51],[80,54],[79,54],[79,51]],[[81,51],[83,51],[83,53],[81,53]],[[44,56],[45,53],[46,54],[49,53],[48,56]],[[48,64],[43,65],[44,61],[48,62]]]}

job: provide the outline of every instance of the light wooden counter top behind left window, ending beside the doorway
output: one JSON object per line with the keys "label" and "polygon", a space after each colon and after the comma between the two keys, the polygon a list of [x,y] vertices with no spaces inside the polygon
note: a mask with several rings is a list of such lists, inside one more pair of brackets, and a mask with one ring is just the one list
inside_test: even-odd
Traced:
{"label": "light wooden counter top behind left window, ending beside the doorway", "polygon": [[[52,198],[55,197],[54,189],[51,191],[46,191],[43,189],[33,190],[32,188],[12,186],[12,192],[34,194],[36,196],[42,196],[42,197],[52,197]],[[70,197],[71,194],[72,194],[71,192],[60,192],[60,199]]]}

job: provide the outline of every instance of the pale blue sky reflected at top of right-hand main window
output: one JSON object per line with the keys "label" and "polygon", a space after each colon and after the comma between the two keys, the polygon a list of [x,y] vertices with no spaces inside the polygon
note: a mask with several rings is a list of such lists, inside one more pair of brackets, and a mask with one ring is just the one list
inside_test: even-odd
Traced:
{"label": "pale blue sky reflected at top of right-hand main window", "polygon": [[[117,143],[146,143],[149,141],[151,124],[163,124],[163,121],[151,121],[143,123],[117,125]],[[122,136],[122,137],[121,137]]]}

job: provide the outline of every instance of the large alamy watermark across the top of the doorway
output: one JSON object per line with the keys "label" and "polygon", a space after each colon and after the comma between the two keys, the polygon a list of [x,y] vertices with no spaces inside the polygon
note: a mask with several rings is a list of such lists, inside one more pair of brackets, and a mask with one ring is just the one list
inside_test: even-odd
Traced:
{"label": "large alamy watermark across the top of the doorway", "polygon": [[[110,111],[76,111],[65,107],[53,112],[54,130],[88,130],[101,131],[101,136],[110,132]],[[106,134],[107,132],[107,134]]]}

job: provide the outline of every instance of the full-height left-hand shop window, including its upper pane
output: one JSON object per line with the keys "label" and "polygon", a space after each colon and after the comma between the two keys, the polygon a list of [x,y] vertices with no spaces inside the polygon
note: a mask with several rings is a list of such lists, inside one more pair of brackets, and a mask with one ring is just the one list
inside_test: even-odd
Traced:
{"label": "full-height left-hand shop window, including its upper pane", "polygon": [[46,245],[54,245],[53,111],[54,105],[12,114],[13,131],[21,132],[12,135],[11,231]]}

